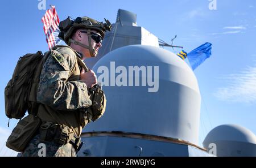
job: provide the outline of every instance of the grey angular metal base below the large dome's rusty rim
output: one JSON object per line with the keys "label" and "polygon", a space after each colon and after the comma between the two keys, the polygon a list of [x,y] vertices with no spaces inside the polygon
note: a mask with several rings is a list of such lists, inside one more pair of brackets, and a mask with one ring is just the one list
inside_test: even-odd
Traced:
{"label": "grey angular metal base below the large dome's rusty rim", "polygon": [[84,148],[80,150],[80,157],[212,157],[203,148],[193,145],[170,141],[147,140],[132,137],[118,137],[101,135],[84,137]]}

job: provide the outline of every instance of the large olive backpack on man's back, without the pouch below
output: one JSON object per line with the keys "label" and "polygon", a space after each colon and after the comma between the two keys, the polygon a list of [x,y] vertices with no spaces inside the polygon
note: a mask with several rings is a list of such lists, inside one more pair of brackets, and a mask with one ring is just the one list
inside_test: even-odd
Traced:
{"label": "large olive backpack on man's back, without the pouch below", "polygon": [[46,60],[43,58],[42,51],[19,58],[13,77],[5,87],[5,114],[8,118],[20,119],[26,111],[28,114],[37,111],[35,91],[38,89],[40,73]]}

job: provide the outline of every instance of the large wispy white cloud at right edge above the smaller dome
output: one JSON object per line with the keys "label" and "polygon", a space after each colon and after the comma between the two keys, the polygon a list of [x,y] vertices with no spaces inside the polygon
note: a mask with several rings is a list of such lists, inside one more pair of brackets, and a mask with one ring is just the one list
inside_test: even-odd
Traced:
{"label": "large wispy white cloud at right edge above the smaller dome", "polygon": [[247,67],[238,74],[225,77],[227,87],[218,88],[214,93],[219,100],[228,102],[256,102],[256,66]]}

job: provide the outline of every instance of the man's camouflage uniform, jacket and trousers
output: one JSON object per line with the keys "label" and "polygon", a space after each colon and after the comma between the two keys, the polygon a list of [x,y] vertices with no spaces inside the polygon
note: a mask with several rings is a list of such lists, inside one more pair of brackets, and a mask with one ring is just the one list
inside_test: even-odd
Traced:
{"label": "man's camouflage uniform, jacket and trousers", "polygon": [[[38,89],[38,117],[44,121],[65,125],[77,136],[90,122],[86,107],[92,105],[86,84],[80,81],[78,53],[67,47],[49,51],[43,66]],[[38,156],[39,136],[35,136],[24,150],[22,156]],[[58,145],[46,143],[47,156],[73,156],[71,144]]]}

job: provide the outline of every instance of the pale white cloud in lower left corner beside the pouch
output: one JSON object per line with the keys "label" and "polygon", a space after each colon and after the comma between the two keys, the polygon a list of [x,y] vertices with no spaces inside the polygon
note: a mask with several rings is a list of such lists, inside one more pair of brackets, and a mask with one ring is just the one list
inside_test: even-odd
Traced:
{"label": "pale white cloud in lower left corner beside the pouch", "polygon": [[6,147],[5,143],[11,134],[11,130],[0,127],[0,156],[16,156],[18,153]]}

